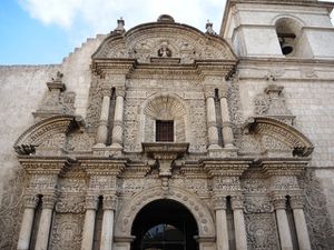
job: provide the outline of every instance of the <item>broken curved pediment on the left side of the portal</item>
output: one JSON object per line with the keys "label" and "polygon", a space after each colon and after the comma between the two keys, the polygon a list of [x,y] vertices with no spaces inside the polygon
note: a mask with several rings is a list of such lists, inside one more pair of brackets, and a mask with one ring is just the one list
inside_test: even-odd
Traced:
{"label": "broken curved pediment on the left side of the portal", "polygon": [[41,120],[27,129],[16,141],[13,148],[19,154],[35,153],[36,148],[61,148],[66,134],[78,127],[73,116],[55,116]]}

